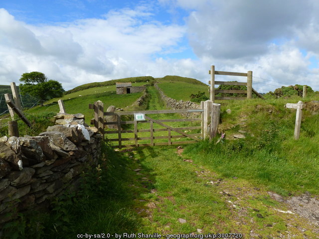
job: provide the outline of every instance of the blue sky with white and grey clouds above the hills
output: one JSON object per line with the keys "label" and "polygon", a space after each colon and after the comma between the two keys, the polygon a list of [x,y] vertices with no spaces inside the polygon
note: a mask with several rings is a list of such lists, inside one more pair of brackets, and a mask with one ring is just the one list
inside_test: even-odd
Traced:
{"label": "blue sky with white and grey clouds above the hills", "polygon": [[253,71],[261,93],[319,91],[318,12],[318,0],[0,0],[0,85],[32,71],[65,90],[136,76],[207,84],[215,65]]}

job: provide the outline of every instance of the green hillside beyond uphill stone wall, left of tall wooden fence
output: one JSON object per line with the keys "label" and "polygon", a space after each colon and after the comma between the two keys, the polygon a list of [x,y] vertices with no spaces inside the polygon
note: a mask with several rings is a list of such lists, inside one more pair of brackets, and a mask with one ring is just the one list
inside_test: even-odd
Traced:
{"label": "green hillside beyond uphill stone wall, left of tall wooden fence", "polygon": [[165,76],[156,80],[163,93],[176,101],[191,101],[190,95],[199,91],[209,97],[208,86],[193,78]]}

